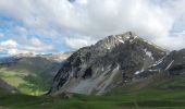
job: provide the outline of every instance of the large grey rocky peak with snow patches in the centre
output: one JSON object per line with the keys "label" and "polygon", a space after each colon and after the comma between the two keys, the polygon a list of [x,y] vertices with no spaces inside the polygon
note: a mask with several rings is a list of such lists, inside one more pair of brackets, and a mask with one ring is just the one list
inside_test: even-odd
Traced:
{"label": "large grey rocky peak with snow patches in the centre", "polygon": [[132,32],[108,36],[74,52],[55,75],[49,93],[100,95],[132,81],[164,56],[164,50]]}

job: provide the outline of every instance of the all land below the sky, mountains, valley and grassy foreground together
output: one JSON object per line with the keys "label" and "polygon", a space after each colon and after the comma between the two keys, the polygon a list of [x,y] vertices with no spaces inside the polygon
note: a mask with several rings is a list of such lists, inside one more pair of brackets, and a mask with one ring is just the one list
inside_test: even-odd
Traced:
{"label": "all land below the sky, mountains, valley and grassy foreground together", "polygon": [[185,108],[185,49],[169,52],[127,32],[57,56],[1,61],[0,108]]}

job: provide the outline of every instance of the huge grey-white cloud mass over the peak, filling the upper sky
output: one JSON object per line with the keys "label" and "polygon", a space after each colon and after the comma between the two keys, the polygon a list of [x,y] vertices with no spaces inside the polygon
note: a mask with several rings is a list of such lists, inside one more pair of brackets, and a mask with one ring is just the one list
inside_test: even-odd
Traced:
{"label": "huge grey-white cloud mass over the peak, filling the upper sky", "polygon": [[181,19],[184,4],[185,0],[1,0],[0,12],[23,21],[41,37],[52,38],[53,45],[72,49],[126,31],[164,48],[180,49],[185,47],[185,25],[180,25],[185,22]]}

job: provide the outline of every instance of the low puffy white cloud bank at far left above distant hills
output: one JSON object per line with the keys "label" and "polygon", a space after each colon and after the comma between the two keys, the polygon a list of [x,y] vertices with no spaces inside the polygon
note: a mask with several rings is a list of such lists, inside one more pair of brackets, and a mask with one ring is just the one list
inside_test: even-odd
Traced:
{"label": "low puffy white cloud bank at far left above distant hills", "polygon": [[45,53],[53,49],[51,45],[46,45],[37,38],[25,39],[27,45],[21,46],[17,41],[9,39],[0,43],[0,52],[7,51],[8,55],[20,55],[20,53]]}

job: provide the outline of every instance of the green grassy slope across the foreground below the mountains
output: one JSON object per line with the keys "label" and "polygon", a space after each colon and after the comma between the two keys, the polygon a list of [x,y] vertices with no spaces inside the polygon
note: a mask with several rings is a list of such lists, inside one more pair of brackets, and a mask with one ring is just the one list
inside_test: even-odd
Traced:
{"label": "green grassy slope across the foreground below the mountains", "polygon": [[72,94],[27,96],[0,93],[0,106],[10,109],[185,109],[185,77],[175,76],[148,87],[124,92],[120,87],[104,96]]}

